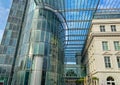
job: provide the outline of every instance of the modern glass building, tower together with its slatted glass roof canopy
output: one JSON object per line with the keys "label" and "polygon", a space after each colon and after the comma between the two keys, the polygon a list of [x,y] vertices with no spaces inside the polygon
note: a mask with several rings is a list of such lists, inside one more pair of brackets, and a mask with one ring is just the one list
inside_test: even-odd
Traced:
{"label": "modern glass building, tower together with its slatted glass roof canopy", "polygon": [[0,83],[65,85],[64,64],[79,62],[92,19],[102,18],[120,18],[120,0],[13,0],[0,45]]}

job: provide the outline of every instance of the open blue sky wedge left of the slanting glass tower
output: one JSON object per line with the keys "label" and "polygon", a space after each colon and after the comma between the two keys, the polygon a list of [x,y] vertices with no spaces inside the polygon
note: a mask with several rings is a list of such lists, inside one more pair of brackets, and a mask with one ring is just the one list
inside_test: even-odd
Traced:
{"label": "open blue sky wedge left of the slanting glass tower", "polygon": [[0,0],[0,41],[5,29],[12,0]]}

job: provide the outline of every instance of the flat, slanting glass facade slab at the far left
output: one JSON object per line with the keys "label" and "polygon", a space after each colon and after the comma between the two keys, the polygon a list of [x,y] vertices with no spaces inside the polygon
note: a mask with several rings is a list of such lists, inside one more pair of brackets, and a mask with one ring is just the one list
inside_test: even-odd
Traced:
{"label": "flat, slanting glass facade slab at the far left", "polygon": [[22,27],[26,0],[13,0],[6,29],[0,45],[0,84],[8,85],[12,79],[12,66]]}

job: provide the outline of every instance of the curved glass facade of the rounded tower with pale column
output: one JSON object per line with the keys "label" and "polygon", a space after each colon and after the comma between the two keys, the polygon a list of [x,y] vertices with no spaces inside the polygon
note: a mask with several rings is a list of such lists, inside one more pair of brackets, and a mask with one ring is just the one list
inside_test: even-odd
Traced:
{"label": "curved glass facade of the rounded tower with pale column", "polygon": [[47,1],[28,3],[12,85],[64,83],[64,28],[58,16],[45,9]]}

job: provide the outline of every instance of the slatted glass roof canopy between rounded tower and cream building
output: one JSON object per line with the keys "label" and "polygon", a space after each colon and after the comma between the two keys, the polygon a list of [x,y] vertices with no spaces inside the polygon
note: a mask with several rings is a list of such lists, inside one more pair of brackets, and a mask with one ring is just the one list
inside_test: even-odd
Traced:
{"label": "slatted glass roof canopy between rounded tower and cream building", "polygon": [[120,14],[120,0],[65,0],[63,15],[68,29],[65,38],[65,63],[75,63],[82,53],[91,21],[102,13]]}

